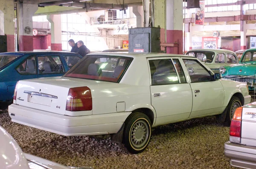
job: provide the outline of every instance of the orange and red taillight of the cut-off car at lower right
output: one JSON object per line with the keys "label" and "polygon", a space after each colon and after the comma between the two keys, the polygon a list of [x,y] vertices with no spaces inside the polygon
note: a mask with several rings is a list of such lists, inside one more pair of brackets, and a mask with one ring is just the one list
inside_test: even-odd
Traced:
{"label": "orange and red taillight of the cut-off car at lower right", "polygon": [[238,107],[230,124],[230,141],[241,143],[241,119],[243,107]]}

